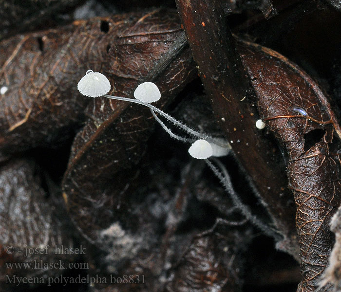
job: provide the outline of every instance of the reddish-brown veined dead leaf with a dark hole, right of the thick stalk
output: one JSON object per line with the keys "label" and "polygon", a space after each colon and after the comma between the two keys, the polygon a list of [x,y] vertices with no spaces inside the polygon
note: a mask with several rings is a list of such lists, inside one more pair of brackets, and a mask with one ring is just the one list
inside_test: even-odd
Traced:
{"label": "reddish-brown veined dead leaf with a dark hole, right of the thick stalk", "polygon": [[[314,291],[328,264],[328,223],[340,205],[340,127],[316,83],[284,56],[239,42],[268,129],[285,147],[297,206],[301,273],[298,291]],[[323,291],[330,291],[330,286]]]}

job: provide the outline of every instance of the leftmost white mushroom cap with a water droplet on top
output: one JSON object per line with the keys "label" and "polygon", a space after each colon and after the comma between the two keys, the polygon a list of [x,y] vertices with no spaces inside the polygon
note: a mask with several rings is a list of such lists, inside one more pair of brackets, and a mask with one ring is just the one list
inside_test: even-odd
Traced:
{"label": "leftmost white mushroom cap with a water droplet on top", "polygon": [[78,91],[89,97],[98,97],[107,94],[111,85],[107,77],[102,73],[88,70],[82,79],[79,80]]}

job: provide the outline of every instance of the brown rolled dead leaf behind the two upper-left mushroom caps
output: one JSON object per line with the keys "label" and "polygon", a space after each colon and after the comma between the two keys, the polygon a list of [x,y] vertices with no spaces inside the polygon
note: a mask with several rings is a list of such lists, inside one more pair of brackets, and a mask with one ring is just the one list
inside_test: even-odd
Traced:
{"label": "brown rolled dead leaf behind the two upper-left mushroom caps", "polygon": [[[153,26],[160,14],[164,15],[164,22]],[[142,30],[146,21],[150,28]],[[58,30],[19,35],[0,42],[0,87],[7,89],[0,98],[1,151],[56,145],[72,136],[84,121],[83,111],[91,101],[80,96],[76,87],[88,69],[107,74],[114,80],[114,92],[119,92],[115,91],[119,84],[120,92],[129,95],[127,92],[137,86],[137,72],[144,70],[144,77],[151,73],[156,59],[167,55],[170,44],[181,35],[177,23],[175,13],[158,9],[76,21]],[[171,34],[173,37],[168,39]],[[130,35],[132,43],[128,42]],[[153,50],[153,40],[165,44],[158,51]],[[121,50],[124,55],[120,55]],[[144,68],[136,62],[141,57],[154,62],[153,66]],[[179,65],[178,73],[186,75],[188,71]],[[168,82],[172,76],[169,78]],[[102,120],[108,117],[96,114]]]}

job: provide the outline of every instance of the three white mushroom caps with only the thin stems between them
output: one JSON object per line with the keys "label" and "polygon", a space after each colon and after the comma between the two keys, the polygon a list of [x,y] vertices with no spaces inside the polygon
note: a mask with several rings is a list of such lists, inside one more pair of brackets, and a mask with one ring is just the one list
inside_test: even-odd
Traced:
{"label": "three white mushroom caps with only the thin stems between them", "polygon": [[[135,99],[125,98],[120,96],[107,95],[111,89],[108,78],[99,72],[88,70],[79,82],[78,91],[85,96],[99,97],[105,96],[110,99],[122,100],[137,103],[150,108],[156,121],[164,128],[172,138],[183,142],[190,142],[192,145],[189,147],[189,154],[196,159],[207,159],[211,156],[219,157],[225,156],[229,153],[231,147],[224,139],[213,139],[208,135],[199,133],[181,122],[175,120],[167,113],[159,110],[151,105],[152,102],[156,102],[161,98],[161,92],[158,87],[152,82],[141,83],[134,91]],[[156,116],[155,112],[165,117],[168,121],[183,129],[193,138],[181,137],[174,134],[166,125]],[[200,139],[198,139],[200,138]],[[194,141],[194,143],[193,143]]]}

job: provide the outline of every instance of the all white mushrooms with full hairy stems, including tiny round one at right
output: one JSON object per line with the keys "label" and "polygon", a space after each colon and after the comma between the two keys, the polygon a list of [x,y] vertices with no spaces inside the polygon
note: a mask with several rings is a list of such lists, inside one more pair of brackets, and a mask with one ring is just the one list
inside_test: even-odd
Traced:
{"label": "all white mushrooms with full hairy stems, including tiny round one at right", "polygon": [[[229,153],[231,146],[226,140],[212,138],[206,134],[197,132],[189,128],[185,124],[182,124],[181,122],[172,118],[169,114],[152,106],[150,103],[158,101],[161,97],[159,89],[152,82],[144,82],[140,84],[134,91],[135,99],[107,95],[110,89],[111,85],[108,78],[105,77],[102,73],[93,72],[92,70],[88,70],[85,76],[78,82],[78,90],[80,91],[81,94],[85,96],[89,97],[105,96],[106,98],[132,102],[148,107],[151,110],[155,120],[162,126],[162,128],[166,130],[167,133],[170,134],[170,137],[183,142],[191,143],[191,146],[189,147],[188,150],[189,154],[196,159],[205,160],[206,164],[212,169],[213,173],[221,181],[221,183],[227,190],[227,193],[230,195],[234,206],[240,209],[240,211],[246,217],[246,219],[249,219],[254,225],[263,230],[266,235],[275,237],[274,234],[272,234],[269,231],[271,230],[271,228],[269,228],[263,221],[259,220],[254,215],[252,215],[252,213],[249,211],[249,208],[246,205],[244,205],[244,203],[239,199],[237,193],[233,189],[232,183],[230,181],[225,166],[217,159],[214,158],[212,159],[212,161],[214,161],[217,164],[217,166],[212,164],[211,160],[208,160],[209,157],[225,156]],[[0,93],[2,94],[2,92]],[[190,138],[174,134],[170,130],[170,128],[167,128],[166,125],[159,119],[159,117],[156,116],[156,113],[160,114],[160,116],[164,117],[170,123],[184,130],[184,132],[186,132],[190,136]],[[259,129],[263,129],[265,128],[265,123],[262,120],[258,120],[256,122],[256,127]]]}

